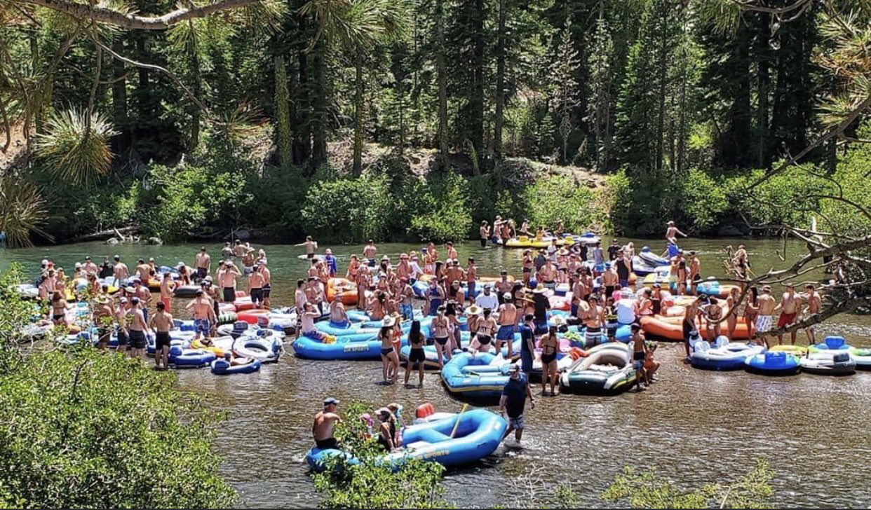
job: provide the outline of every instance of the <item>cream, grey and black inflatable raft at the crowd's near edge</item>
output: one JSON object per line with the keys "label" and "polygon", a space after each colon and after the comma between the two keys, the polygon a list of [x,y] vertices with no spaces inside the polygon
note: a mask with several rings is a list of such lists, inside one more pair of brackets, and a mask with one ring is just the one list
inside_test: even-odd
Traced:
{"label": "cream, grey and black inflatable raft at the crowd's near edge", "polygon": [[629,389],[634,381],[630,347],[611,342],[573,360],[560,375],[559,386],[569,393],[613,395]]}

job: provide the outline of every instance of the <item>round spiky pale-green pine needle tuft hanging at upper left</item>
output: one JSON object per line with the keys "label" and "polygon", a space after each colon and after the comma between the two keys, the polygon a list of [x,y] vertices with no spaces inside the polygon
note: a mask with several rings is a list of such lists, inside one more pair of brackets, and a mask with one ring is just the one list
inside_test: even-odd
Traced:
{"label": "round spiky pale-green pine needle tuft hanging at upper left", "polygon": [[37,134],[37,156],[58,178],[81,184],[109,171],[109,139],[118,132],[105,116],[93,113],[89,119],[84,111],[67,110],[49,117],[46,125],[46,132]]}

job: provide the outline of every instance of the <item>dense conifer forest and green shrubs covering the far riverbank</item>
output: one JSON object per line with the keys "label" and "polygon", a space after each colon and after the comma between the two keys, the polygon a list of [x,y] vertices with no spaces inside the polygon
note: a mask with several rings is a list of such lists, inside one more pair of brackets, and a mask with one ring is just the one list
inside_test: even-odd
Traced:
{"label": "dense conifer forest and green shrubs covering the far riverbank", "polygon": [[192,4],[0,3],[13,244],[746,234],[871,163],[861,3]]}

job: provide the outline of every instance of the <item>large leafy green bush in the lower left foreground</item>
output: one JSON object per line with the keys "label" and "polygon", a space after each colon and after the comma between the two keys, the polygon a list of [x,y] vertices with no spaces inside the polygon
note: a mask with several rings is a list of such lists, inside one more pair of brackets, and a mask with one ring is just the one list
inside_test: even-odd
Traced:
{"label": "large leafy green bush in the lower left foreground", "polygon": [[[169,372],[86,346],[21,350],[33,302],[0,275],[0,507],[231,507],[220,416]],[[62,334],[63,332],[57,332]]]}

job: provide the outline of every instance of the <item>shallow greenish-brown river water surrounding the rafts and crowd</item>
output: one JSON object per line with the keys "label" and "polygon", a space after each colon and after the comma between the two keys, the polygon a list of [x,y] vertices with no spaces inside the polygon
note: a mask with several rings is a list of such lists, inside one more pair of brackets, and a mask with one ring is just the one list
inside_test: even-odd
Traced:
{"label": "shallow greenish-brown river water surrounding the rafts and crowd", "polygon": [[[608,239],[610,240],[610,239]],[[656,250],[659,241],[647,241]],[[636,249],[647,243],[635,240]],[[773,240],[740,241],[747,245],[756,272],[782,267]],[[726,245],[738,239],[690,240],[685,249],[699,252],[705,276],[722,274]],[[207,245],[213,257],[219,245]],[[258,246],[260,247],[260,246]],[[263,246],[273,273],[273,305],[290,303],[297,278],[307,262],[299,247]],[[334,247],[341,270],[361,246]],[[381,253],[398,258],[420,245],[381,245]],[[521,252],[463,244],[461,259],[476,257],[479,274],[502,268],[519,274]],[[21,262],[35,274],[42,258],[51,258],[71,272],[91,255],[120,254],[128,265],[138,257],[154,257],[159,265],[179,260],[192,264],[199,245],[125,245],[99,243],[0,251],[0,270]],[[787,261],[801,255],[801,245],[787,246]],[[443,252],[443,251],[442,251]],[[825,278],[804,275],[803,278]],[[775,292],[777,289],[775,289]],[[184,301],[175,300],[180,311]],[[841,315],[820,327],[818,335],[840,334],[854,346],[871,346],[871,317]],[[799,342],[805,343],[799,333]],[[290,350],[290,347],[287,347]],[[291,351],[292,352],[292,351]],[[523,450],[497,450],[489,459],[448,474],[447,498],[459,507],[530,505],[528,478],[544,480],[544,493],[557,481],[577,482],[584,507],[602,507],[598,494],[623,466],[652,466],[679,487],[708,481],[736,480],[756,459],[769,460],[776,507],[868,507],[871,495],[861,480],[868,469],[871,440],[871,373],[847,378],[802,374],[766,378],[746,372],[703,372],[681,363],[683,347],[664,345],[659,381],[643,393],[611,398],[559,396],[537,398],[527,409]],[[224,409],[219,447],[226,453],[222,471],[240,493],[243,507],[312,507],[318,497],[302,458],[311,446],[311,419],[327,395],[373,406],[399,402],[413,413],[421,402],[439,411],[457,411],[461,404],[428,374],[422,389],[380,386],[379,362],[319,362],[287,355],[259,373],[219,378],[207,370],[179,372],[179,386],[206,393]],[[415,379],[414,376],[412,379]],[[183,440],[179,438],[179,440]],[[524,480],[523,483],[520,480]]]}

